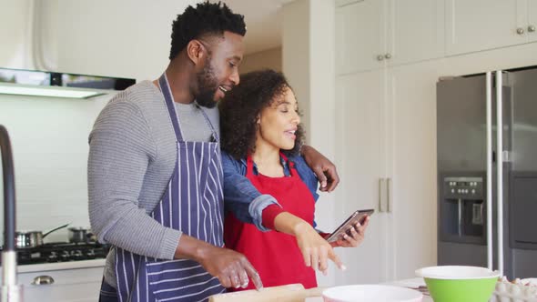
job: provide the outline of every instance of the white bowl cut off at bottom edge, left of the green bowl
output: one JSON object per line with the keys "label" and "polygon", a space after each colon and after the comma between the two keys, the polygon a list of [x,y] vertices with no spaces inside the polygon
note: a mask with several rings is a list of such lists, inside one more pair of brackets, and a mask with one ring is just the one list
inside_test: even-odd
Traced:
{"label": "white bowl cut off at bottom edge, left of the green bowl", "polygon": [[355,285],[330,287],[322,298],[325,302],[420,302],[423,295],[405,287]]}

